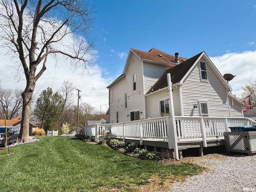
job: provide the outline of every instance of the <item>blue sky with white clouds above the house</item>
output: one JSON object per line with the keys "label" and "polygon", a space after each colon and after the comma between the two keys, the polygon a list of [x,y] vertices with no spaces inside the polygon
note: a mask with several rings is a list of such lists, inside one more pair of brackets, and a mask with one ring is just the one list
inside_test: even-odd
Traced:
{"label": "blue sky with white clouds above the house", "polygon": [[[81,102],[108,108],[108,90],[124,69],[130,48],[156,48],[168,54],[191,58],[205,51],[220,73],[236,77],[230,81],[233,94],[256,79],[256,2],[238,0],[95,0],[95,21],[89,37],[96,40],[95,68],[91,75],[72,74],[69,66],[48,61],[36,83],[35,98],[48,86],[58,90],[64,80],[82,90]],[[9,61],[0,56],[2,88],[24,88],[13,80]],[[54,75],[55,72],[55,75]],[[76,92],[74,92],[76,94]]]}

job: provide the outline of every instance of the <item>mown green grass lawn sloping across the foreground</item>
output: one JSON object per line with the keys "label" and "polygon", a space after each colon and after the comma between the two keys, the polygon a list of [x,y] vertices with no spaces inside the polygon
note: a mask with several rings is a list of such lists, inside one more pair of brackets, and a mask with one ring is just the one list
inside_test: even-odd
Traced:
{"label": "mown green grass lawn sloping across the foreground", "polygon": [[190,163],[162,164],[122,154],[76,138],[37,136],[40,141],[0,151],[1,191],[139,191],[158,178],[158,186],[204,168]]}

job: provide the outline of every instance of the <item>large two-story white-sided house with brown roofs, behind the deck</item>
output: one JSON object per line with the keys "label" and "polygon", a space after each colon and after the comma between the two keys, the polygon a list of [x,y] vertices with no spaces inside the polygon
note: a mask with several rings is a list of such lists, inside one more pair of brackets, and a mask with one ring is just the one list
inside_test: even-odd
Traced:
{"label": "large two-story white-sided house with brown roofs, behind the deck", "polygon": [[109,122],[167,116],[168,73],[175,116],[243,116],[243,103],[205,52],[186,59],[152,48],[130,49],[123,74],[107,87]]}

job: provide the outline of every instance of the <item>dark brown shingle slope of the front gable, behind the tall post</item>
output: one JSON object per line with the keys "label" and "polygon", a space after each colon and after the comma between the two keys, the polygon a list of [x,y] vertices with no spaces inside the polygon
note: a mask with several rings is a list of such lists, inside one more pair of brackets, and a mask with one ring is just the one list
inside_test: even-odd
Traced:
{"label": "dark brown shingle slope of the front gable, behind the tall post", "polygon": [[[150,92],[157,91],[159,89],[162,89],[164,87],[167,87],[167,74],[171,74],[172,83],[178,83],[182,78],[186,75],[188,70],[192,67],[192,65],[196,62],[196,60],[199,58],[199,56],[202,54],[199,53],[196,56],[182,62],[181,64],[178,64],[164,72],[164,74],[158,79],[158,81],[152,86],[150,90],[146,94],[149,94]],[[153,91],[152,91],[153,89]]]}

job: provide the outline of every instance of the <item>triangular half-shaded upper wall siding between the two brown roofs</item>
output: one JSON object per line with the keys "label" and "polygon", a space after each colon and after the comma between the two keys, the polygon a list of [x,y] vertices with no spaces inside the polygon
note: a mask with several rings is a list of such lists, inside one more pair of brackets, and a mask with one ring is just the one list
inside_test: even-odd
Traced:
{"label": "triangular half-shaded upper wall siding between the two brown roofs", "polygon": [[156,81],[169,69],[168,67],[143,62],[144,93],[156,83]]}

